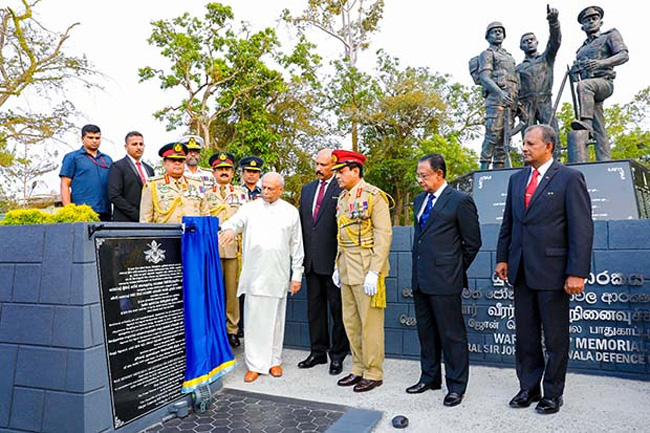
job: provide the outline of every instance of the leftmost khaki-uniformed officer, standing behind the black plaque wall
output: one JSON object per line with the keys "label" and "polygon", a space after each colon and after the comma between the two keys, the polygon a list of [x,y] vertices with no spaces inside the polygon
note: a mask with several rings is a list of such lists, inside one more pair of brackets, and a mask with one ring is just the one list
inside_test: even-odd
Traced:
{"label": "leftmost khaki-uniformed officer, standing behind the black plaque wall", "polygon": [[141,223],[180,224],[183,216],[210,215],[203,183],[183,175],[187,147],[169,143],[158,152],[165,174],[147,180],[140,200]]}

